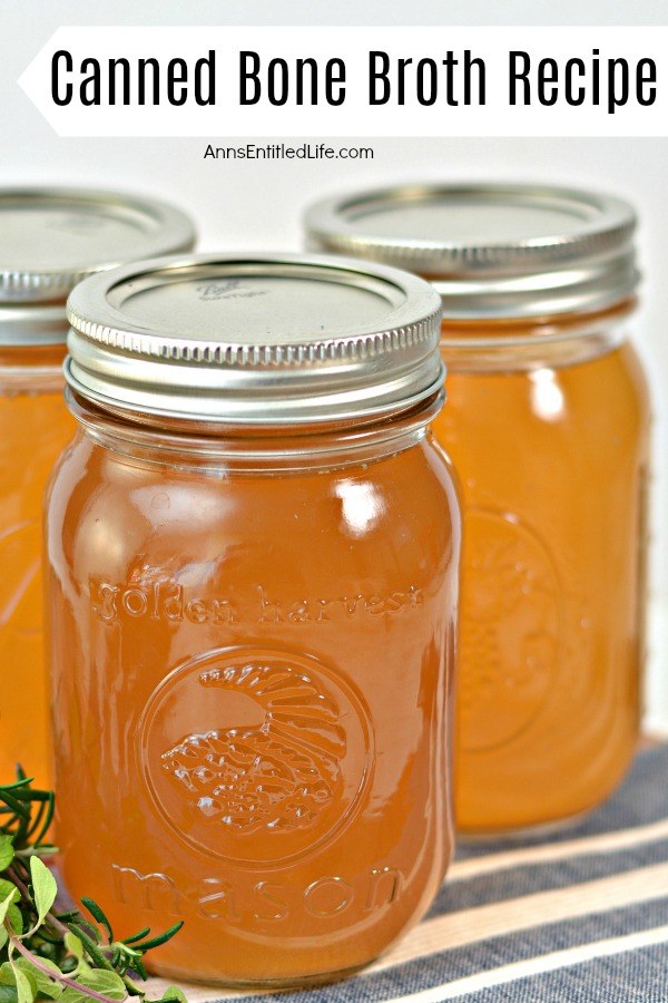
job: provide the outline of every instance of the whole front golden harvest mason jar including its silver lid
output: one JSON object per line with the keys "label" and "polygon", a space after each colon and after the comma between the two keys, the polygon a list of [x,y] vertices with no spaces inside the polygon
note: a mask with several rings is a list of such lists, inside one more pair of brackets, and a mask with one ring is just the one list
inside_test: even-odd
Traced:
{"label": "whole front golden harvest mason jar including its silver lid", "polygon": [[70,296],[58,840],[119,931],[185,919],[159,974],[332,977],[442,880],[460,517],[428,430],[440,308],[412,275],[299,255],[166,259]]}

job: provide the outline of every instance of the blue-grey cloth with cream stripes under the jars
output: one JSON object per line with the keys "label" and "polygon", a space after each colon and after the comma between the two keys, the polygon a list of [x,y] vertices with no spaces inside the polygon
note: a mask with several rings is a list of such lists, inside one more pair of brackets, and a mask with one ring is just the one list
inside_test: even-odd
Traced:
{"label": "blue-grey cloth with cream stripes under the jars", "polygon": [[668,746],[577,828],[462,847],[429,916],[363,974],[281,994],[184,989],[191,1003],[668,1003]]}

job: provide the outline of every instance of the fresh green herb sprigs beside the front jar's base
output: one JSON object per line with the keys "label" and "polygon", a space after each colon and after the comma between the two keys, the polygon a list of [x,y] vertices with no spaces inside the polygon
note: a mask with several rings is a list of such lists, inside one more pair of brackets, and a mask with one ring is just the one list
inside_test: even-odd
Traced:
{"label": "fresh green herb sprigs beside the front jar's base", "polygon": [[[145,927],[116,939],[109,919],[91,898],[79,909],[57,905],[58,883],[45,859],[57,848],[48,841],[55,796],[37,790],[19,769],[0,785],[0,1003],[119,1003],[146,993],[144,955],[178,933],[176,923],[158,936]],[[169,986],[158,1003],[187,1003]]]}

